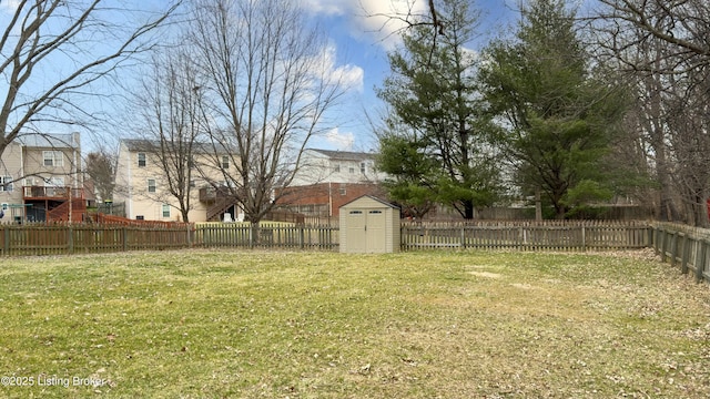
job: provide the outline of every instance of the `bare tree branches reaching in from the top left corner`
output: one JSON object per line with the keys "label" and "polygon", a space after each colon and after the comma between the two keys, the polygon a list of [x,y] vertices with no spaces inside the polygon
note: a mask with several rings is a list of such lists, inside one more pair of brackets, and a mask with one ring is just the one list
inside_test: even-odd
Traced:
{"label": "bare tree branches reaching in from the top left corner", "polygon": [[[3,1],[4,3],[4,1]],[[0,33],[0,154],[19,134],[43,123],[75,124],[87,110],[77,100],[91,85],[150,47],[146,39],[175,10],[144,23],[111,22],[126,9],[106,0],[18,0]],[[99,95],[99,94],[95,94]]]}

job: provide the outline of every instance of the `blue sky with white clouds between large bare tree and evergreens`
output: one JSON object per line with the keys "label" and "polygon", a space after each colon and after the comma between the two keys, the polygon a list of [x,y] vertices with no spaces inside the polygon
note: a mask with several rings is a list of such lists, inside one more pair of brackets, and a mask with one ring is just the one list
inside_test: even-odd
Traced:
{"label": "blue sky with white clouds between large bare tree and evergreens", "polygon": [[[338,110],[337,126],[317,137],[311,146],[329,150],[371,151],[376,146],[366,114],[378,117],[383,110],[374,88],[389,74],[387,52],[395,49],[394,33],[400,25],[385,24],[376,14],[404,11],[412,4],[426,12],[426,0],[304,0],[306,9],[326,30],[337,54],[339,68],[347,68],[354,84]],[[481,10],[481,43],[498,35],[503,27],[517,19],[517,0],[478,0]],[[479,50],[479,49],[474,49]],[[355,82],[355,80],[359,81]]]}

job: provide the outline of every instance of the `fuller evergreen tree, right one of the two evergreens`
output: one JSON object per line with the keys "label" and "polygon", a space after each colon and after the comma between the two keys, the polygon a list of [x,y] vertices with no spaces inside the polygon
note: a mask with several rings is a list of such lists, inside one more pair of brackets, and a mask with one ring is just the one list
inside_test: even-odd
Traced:
{"label": "fuller evergreen tree, right one of the two evergreens", "polygon": [[505,154],[525,192],[541,193],[564,218],[612,196],[608,164],[623,102],[590,73],[589,55],[564,0],[532,0],[514,39],[493,43],[481,73]]}

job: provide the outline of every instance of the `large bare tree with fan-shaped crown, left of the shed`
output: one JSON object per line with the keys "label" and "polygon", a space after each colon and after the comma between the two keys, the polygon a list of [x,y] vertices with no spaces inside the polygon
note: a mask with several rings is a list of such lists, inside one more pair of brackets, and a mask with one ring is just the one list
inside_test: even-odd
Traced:
{"label": "large bare tree with fan-shaped crown, left of the shed", "polygon": [[257,226],[325,127],[342,76],[292,1],[196,0],[194,12],[194,57],[213,104],[210,134],[215,154],[232,149],[236,166],[222,171],[223,181]]}

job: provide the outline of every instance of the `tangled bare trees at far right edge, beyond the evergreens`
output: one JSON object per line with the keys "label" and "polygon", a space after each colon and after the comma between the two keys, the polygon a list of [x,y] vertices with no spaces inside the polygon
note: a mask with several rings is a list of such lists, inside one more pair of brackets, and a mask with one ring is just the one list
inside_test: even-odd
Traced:
{"label": "tangled bare trees at far right edge, beyond the evergreens", "polygon": [[704,0],[600,0],[600,43],[636,79],[636,113],[660,186],[660,212],[708,225],[710,195],[710,3]]}

